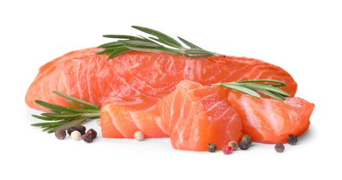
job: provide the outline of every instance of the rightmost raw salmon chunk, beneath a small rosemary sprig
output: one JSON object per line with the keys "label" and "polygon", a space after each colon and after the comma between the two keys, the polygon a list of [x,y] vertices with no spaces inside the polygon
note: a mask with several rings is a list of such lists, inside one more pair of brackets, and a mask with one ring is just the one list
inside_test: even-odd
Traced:
{"label": "rightmost raw salmon chunk, beneath a small rosemary sprig", "polygon": [[314,111],[314,104],[302,98],[258,99],[231,91],[229,100],[241,117],[243,133],[259,143],[287,143],[289,134],[300,136]]}

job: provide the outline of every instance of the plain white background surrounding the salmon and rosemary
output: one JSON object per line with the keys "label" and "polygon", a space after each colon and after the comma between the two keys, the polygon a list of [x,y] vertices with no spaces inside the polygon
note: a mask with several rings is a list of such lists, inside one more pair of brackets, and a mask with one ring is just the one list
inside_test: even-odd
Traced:
{"label": "plain white background surrounding the salmon and rosemary", "polygon": [[[341,171],[342,6],[338,1],[1,1],[0,179],[338,179]],[[31,127],[24,103],[40,66],[98,46],[131,25],[225,55],[277,64],[314,102],[309,131],[279,154],[173,150],[169,139],[58,141]],[[100,132],[100,127],[89,123]]]}

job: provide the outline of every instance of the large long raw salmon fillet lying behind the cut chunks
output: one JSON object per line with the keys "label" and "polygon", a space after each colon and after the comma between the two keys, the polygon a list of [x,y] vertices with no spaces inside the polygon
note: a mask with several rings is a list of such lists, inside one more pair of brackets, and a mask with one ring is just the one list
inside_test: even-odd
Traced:
{"label": "large long raw salmon fillet lying behind the cut chunks", "polygon": [[294,96],[297,84],[284,69],[260,60],[218,55],[191,59],[165,53],[130,52],[107,60],[101,48],[67,53],[44,64],[26,93],[26,104],[46,111],[34,100],[67,106],[52,91],[95,105],[107,97],[155,96],[170,93],[181,80],[207,85],[216,82],[271,78],[287,83]]}

